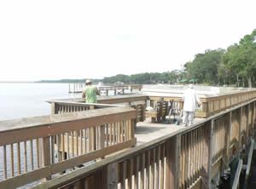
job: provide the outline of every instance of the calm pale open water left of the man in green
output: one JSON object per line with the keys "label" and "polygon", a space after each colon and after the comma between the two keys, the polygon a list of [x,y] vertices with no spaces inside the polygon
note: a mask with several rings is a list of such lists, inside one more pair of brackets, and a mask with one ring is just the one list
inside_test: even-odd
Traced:
{"label": "calm pale open water left of the man in green", "polygon": [[46,100],[76,98],[68,83],[0,83],[0,121],[50,114]]}

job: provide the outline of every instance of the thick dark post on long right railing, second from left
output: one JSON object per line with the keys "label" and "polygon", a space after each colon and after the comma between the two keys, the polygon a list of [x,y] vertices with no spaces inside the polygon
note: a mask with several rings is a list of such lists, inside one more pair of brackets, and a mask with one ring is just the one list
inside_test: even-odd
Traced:
{"label": "thick dark post on long right railing, second from left", "polygon": [[181,135],[173,136],[166,145],[166,188],[179,186]]}

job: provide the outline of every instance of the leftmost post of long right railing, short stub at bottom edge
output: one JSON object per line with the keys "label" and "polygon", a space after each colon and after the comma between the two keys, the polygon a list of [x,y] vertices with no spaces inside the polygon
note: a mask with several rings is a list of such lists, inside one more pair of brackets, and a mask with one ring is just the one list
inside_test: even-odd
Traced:
{"label": "leftmost post of long right railing, short stub at bottom edge", "polygon": [[108,189],[118,188],[118,163],[108,164]]}

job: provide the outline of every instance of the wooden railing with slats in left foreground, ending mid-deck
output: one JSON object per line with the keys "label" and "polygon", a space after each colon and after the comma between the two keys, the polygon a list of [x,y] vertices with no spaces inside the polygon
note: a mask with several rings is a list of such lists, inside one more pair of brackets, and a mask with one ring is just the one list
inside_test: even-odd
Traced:
{"label": "wooden railing with slats in left foreground, ending mid-deck", "polygon": [[108,107],[0,122],[0,188],[16,188],[135,146],[136,110]]}

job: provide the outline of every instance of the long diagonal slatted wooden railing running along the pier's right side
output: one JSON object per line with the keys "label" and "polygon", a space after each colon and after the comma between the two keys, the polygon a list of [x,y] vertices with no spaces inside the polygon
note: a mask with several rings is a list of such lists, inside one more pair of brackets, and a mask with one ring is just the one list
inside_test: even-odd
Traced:
{"label": "long diagonal slatted wooden railing running along the pier's right side", "polygon": [[212,188],[255,129],[255,100],[36,188]]}

